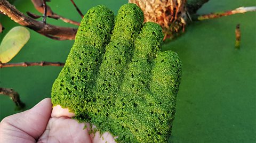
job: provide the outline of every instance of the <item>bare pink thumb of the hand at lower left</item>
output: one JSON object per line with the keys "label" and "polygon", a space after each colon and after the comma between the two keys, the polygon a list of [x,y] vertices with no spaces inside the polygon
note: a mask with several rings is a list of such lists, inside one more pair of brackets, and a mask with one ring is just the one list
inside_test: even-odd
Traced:
{"label": "bare pink thumb of the hand at lower left", "polygon": [[0,123],[0,142],[35,142],[44,132],[52,112],[50,98],[36,106],[11,116]]}

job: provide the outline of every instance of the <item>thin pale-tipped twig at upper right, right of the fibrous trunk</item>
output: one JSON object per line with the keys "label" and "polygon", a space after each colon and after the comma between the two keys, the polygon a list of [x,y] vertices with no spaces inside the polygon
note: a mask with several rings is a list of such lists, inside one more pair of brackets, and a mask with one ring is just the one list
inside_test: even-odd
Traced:
{"label": "thin pale-tipped twig at upper right, right of the fibrous trunk", "polygon": [[217,13],[210,13],[210,14],[205,14],[205,15],[199,15],[197,17],[197,20],[207,20],[207,19],[215,19],[215,18],[220,18],[222,16],[228,16],[228,15],[233,15],[237,13],[245,13],[245,12],[253,12],[256,11],[256,6],[251,6],[251,7],[239,7],[235,10],[231,11],[226,11],[226,12],[217,12]]}

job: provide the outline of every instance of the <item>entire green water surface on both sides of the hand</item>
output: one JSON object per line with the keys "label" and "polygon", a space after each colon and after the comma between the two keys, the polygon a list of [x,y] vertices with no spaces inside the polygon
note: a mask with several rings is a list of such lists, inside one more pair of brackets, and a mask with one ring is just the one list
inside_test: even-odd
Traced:
{"label": "entire green water surface on both sides of the hand", "polygon": [[[75,1],[85,13],[90,7],[105,4],[116,14],[126,1]],[[81,20],[70,1],[55,0],[52,9],[68,18]],[[17,0],[22,12],[34,10],[30,0]],[[70,5],[70,10],[62,8]],[[210,0],[199,13],[236,9],[256,5],[255,1]],[[185,35],[163,50],[171,49],[182,61],[182,80],[177,97],[176,115],[170,142],[255,142],[256,134],[256,13],[195,22]],[[6,31],[17,26],[1,17]],[[62,24],[51,20],[50,23]],[[235,50],[235,26],[241,24],[241,49]],[[55,41],[31,31],[31,38],[11,62],[61,61],[68,56],[74,41]],[[0,86],[17,90],[27,108],[50,97],[59,67],[0,69]],[[14,114],[14,103],[0,96],[0,120]]]}

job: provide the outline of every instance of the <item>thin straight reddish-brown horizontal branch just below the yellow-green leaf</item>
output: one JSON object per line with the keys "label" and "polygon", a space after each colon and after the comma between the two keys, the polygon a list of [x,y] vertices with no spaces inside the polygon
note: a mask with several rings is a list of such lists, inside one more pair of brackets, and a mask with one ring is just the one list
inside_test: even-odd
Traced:
{"label": "thin straight reddish-brown horizontal branch just below the yellow-green leaf", "polygon": [[0,68],[14,67],[14,66],[64,66],[65,63],[60,62],[22,62],[22,63],[0,63]]}

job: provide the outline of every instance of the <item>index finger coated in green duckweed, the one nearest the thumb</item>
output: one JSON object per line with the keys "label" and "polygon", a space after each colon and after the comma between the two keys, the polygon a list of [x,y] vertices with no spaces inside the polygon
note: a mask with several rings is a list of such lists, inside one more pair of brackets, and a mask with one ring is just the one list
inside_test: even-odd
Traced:
{"label": "index finger coated in green duckweed, the one nearest the thumb", "polygon": [[69,107],[76,114],[83,111],[84,96],[92,90],[114,24],[114,14],[105,6],[93,7],[84,17],[52,89],[53,104]]}

